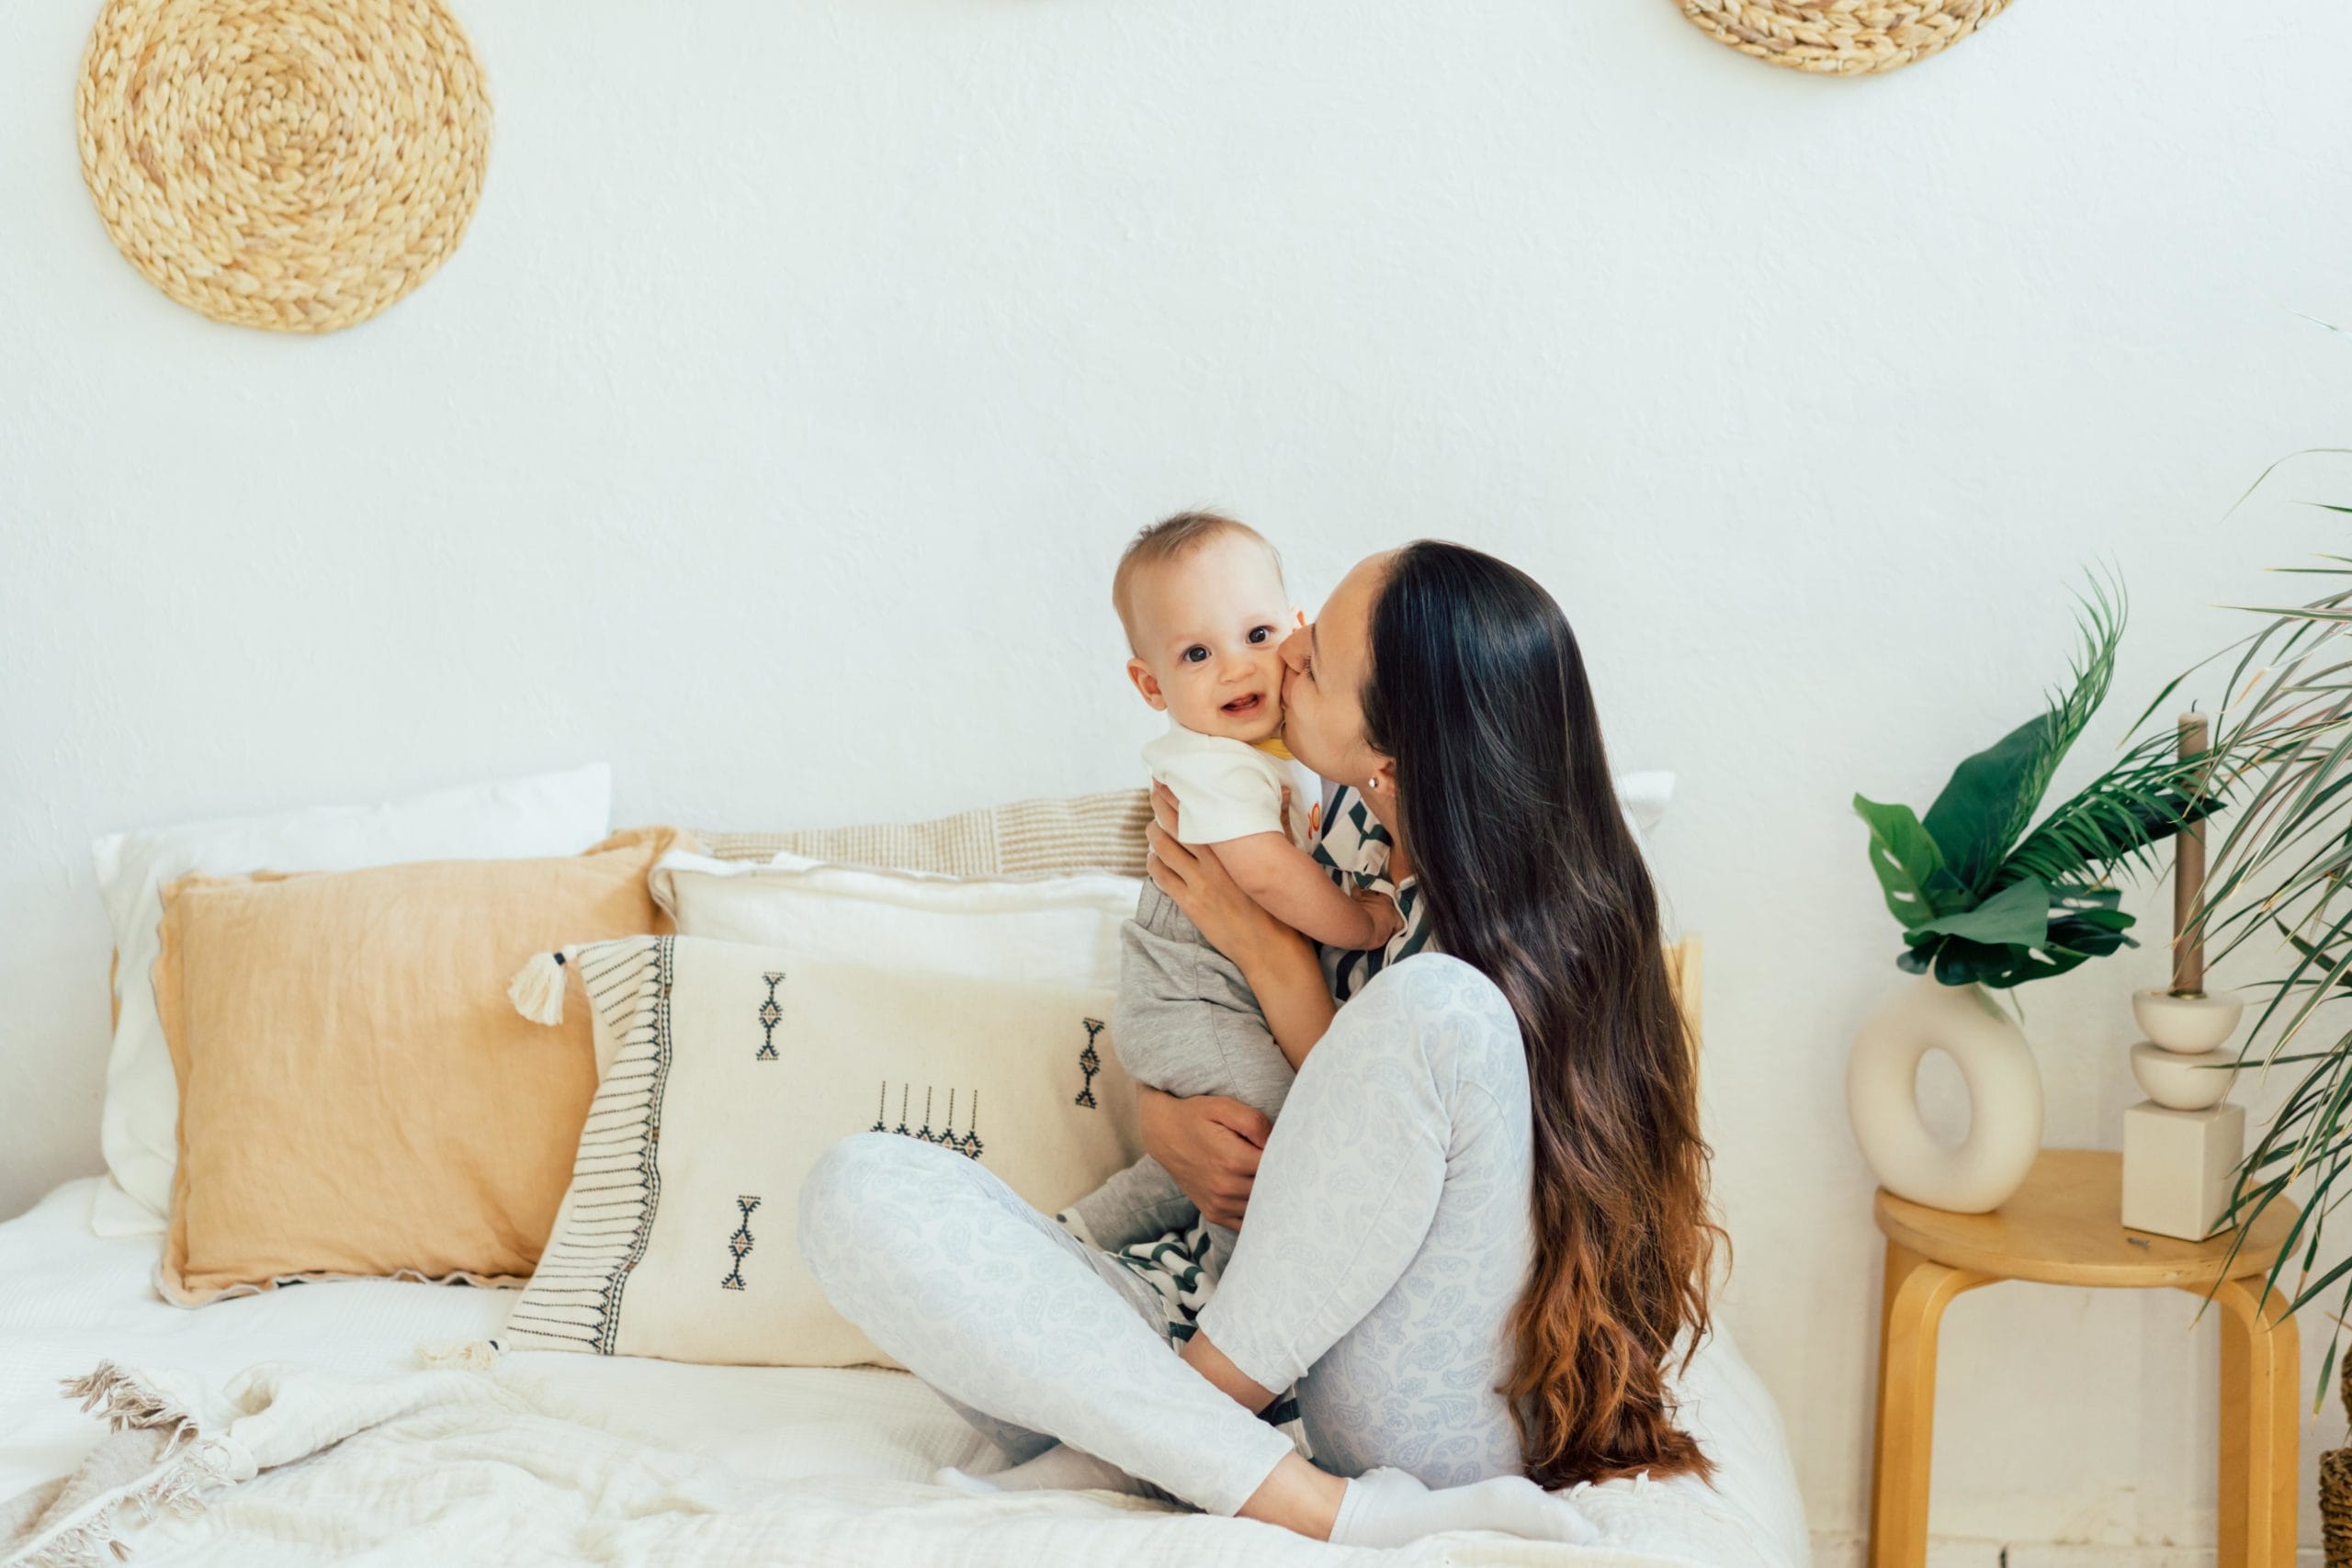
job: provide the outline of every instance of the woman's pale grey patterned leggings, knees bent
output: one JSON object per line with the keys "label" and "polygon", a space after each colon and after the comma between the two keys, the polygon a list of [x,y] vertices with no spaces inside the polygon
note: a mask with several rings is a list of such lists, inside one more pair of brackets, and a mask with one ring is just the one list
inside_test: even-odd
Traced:
{"label": "woman's pale grey patterned leggings, knees bent", "polygon": [[[1517,1020],[1461,959],[1381,971],[1308,1056],[1200,1331],[1261,1387],[1305,1378],[1324,1469],[1519,1474],[1496,1387],[1534,1239],[1529,1128]],[[800,1190],[800,1251],[1014,1460],[1061,1439],[1232,1514],[1291,1453],[1174,1354],[1150,1286],[962,1154],[833,1145]]]}

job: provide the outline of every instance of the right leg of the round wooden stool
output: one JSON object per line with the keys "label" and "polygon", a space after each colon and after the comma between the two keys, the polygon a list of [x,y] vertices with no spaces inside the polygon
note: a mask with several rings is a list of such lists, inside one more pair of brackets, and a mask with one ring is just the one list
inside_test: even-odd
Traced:
{"label": "right leg of the round wooden stool", "polygon": [[[2201,1291],[2199,1291],[2201,1293]],[[2296,1382],[2303,1340],[2263,1276],[2230,1279],[2220,1305],[2220,1549],[2216,1568],[2293,1568]]]}

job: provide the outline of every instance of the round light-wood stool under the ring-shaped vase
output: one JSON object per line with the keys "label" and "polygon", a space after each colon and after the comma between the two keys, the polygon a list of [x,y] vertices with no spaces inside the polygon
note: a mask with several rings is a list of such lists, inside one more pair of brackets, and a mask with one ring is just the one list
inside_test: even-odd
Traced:
{"label": "round light-wood stool under the ring-shaped vase", "polygon": [[[2279,1199],[2230,1258],[2230,1232],[2173,1241],[2129,1232],[2124,1157],[2044,1150],[1994,1213],[1945,1213],[1879,1190],[1886,1298],[1879,1309],[1879,1432],[1870,1483],[1872,1568],[1926,1563],[1926,1476],[1936,1429],[1936,1324],[1962,1291],[2002,1279],[2145,1291],[2173,1286],[2220,1307],[2218,1568],[2293,1568],[2300,1340],[2263,1279],[2296,1220]],[[2145,1241],[2145,1246],[2143,1246]],[[2227,1260],[2230,1279],[2223,1279]]]}

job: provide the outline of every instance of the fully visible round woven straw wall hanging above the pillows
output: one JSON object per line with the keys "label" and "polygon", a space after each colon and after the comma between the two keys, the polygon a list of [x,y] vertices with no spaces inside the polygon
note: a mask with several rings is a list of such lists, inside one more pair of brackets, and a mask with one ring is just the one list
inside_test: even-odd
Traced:
{"label": "fully visible round woven straw wall hanging above the pillows", "polygon": [[270,331],[365,322],[430,277],[489,158],[440,0],[106,0],[73,113],[132,266]]}

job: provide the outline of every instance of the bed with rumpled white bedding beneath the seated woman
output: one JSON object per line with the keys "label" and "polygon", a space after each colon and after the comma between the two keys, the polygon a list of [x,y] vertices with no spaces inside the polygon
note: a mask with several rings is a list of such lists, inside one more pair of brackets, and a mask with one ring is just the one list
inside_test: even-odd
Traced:
{"label": "bed with rumpled white bedding beneath the seated woman", "polygon": [[[1002,1460],[906,1373],[576,1354],[421,1373],[419,1347],[445,1354],[487,1340],[513,1300],[463,1286],[329,1281],[169,1307],[151,1286],[153,1241],[92,1234],[96,1187],[68,1182],[0,1225],[0,1497],[73,1472],[99,1446],[101,1422],[61,1396],[61,1380],[101,1361],[155,1368],[191,1389],[191,1403],[216,1401],[207,1422],[238,1413],[221,1403],[223,1389],[245,1408],[270,1392],[292,1408],[296,1394],[329,1387],[350,1408],[355,1392],[400,1389],[379,1396],[369,1420],[313,1432],[299,1446],[306,1458],[270,1465],[256,1439],[259,1474],[209,1486],[202,1512],[129,1530],[136,1561],[1192,1568],[1350,1556],[1270,1526],[1105,1493],[967,1497],[931,1486],[941,1465],[985,1472]],[[254,1363],[280,1371],[238,1385]],[[1385,1561],[1804,1563],[1780,1420],[1729,1338],[1700,1354],[1684,1401],[1722,1467],[1715,1488],[1646,1479],[1585,1488],[1597,1547],[1446,1535]]]}

